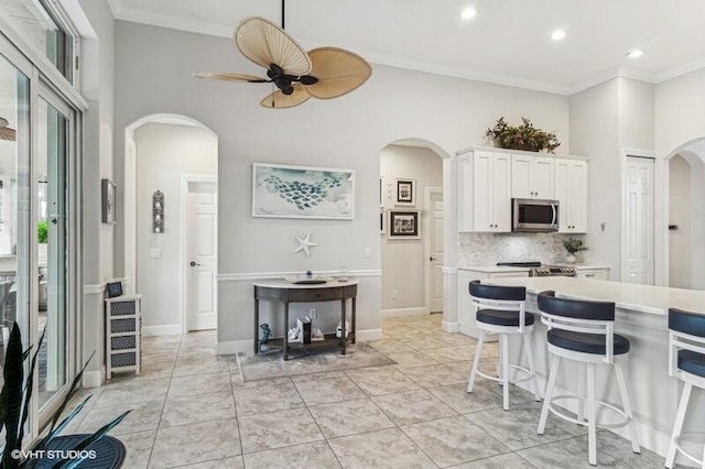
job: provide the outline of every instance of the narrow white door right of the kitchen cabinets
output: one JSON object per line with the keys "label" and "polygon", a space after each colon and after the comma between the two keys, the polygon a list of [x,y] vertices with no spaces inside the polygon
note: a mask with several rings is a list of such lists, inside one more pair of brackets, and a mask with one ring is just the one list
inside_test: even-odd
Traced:
{"label": "narrow white door right of the kitchen cabinets", "polygon": [[653,160],[627,157],[626,221],[629,283],[653,284]]}

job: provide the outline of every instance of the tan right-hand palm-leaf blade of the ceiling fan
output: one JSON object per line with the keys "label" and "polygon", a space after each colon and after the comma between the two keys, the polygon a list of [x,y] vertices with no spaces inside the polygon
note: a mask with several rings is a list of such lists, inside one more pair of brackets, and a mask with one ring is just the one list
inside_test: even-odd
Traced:
{"label": "tan right-hand palm-leaf blade of the ceiling fan", "polygon": [[359,55],[338,47],[318,47],[308,53],[313,68],[311,75],[318,79],[304,85],[311,96],[332,99],[352,91],[372,74],[370,65]]}

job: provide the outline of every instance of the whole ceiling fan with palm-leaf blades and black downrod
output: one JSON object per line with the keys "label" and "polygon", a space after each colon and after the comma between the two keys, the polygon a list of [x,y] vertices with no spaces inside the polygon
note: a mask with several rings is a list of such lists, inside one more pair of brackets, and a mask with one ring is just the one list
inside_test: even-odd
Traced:
{"label": "whole ceiling fan with palm-leaf blades and black downrod", "polygon": [[314,97],[332,99],[362,85],[372,68],[359,55],[338,47],[304,51],[282,28],[259,17],[247,18],[235,30],[238,50],[267,69],[267,78],[235,73],[198,73],[198,78],[225,81],[271,83],[278,89],[260,105],[265,108],[293,108]]}

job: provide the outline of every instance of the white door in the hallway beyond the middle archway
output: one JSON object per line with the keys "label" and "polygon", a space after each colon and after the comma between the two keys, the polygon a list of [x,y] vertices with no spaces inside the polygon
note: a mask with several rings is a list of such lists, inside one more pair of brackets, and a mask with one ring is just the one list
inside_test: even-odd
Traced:
{"label": "white door in the hallway beyond the middle archway", "polygon": [[429,190],[429,262],[426,292],[430,313],[443,310],[443,189]]}

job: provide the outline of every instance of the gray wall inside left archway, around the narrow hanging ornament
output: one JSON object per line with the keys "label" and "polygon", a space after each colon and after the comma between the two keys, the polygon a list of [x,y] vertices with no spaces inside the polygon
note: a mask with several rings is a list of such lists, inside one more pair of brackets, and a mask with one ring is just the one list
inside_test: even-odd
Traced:
{"label": "gray wall inside left archway, around the narrow hanging ornament", "polygon": [[[180,175],[217,175],[218,140],[199,127],[148,123],[137,143],[137,291],[144,334],[181,330]],[[164,232],[152,232],[152,194],[164,193]],[[152,259],[151,249],[161,257]]]}

